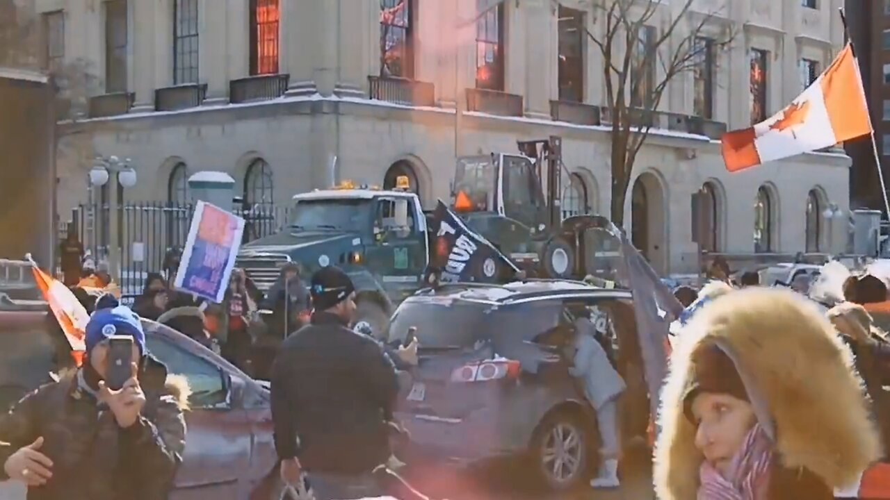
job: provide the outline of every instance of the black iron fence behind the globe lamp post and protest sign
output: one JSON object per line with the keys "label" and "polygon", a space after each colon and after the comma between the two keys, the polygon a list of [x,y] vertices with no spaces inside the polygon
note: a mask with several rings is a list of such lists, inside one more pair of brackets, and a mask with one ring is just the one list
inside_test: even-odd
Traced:
{"label": "black iron fence behind the globe lamp post and protest sign", "polygon": [[[241,204],[232,212],[245,219],[242,243],[263,238],[287,226],[289,207]],[[194,206],[163,202],[130,203],[118,208],[117,247],[120,249],[121,286],[124,294],[138,294],[147,273],[162,270],[167,251],[185,246]],[[61,227],[60,241],[69,227],[77,231],[85,251],[96,260],[109,255],[109,206],[85,204],[71,213]]]}

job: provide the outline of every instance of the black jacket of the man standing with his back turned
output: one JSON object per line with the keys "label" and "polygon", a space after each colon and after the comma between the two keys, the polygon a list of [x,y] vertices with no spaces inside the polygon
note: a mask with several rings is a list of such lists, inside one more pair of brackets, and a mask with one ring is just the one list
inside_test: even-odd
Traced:
{"label": "black jacket of the man standing with his back turned", "polygon": [[318,312],[281,344],[272,367],[275,448],[309,472],[362,474],[392,455],[395,367],[380,345]]}

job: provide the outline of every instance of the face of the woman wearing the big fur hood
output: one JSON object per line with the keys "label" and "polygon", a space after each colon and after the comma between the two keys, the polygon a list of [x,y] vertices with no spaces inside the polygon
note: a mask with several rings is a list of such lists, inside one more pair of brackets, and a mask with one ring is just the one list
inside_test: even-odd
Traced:
{"label": "face of the woman wearing the big fur hood", "polygon": [[695,448],[717,471],[727,472],[756,423],[751,404],[729,394],[701,392],[692,401],[692,415],[698,425]]}

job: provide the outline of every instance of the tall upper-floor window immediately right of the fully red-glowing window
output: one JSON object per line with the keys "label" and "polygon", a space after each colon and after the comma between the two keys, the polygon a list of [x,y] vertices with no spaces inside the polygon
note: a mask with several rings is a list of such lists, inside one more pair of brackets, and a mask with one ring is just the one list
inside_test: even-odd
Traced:
{"label": "tall upper-floor window immediately right of the fully red-glowing window", "polygon": [[380,0],[380,75],[414,77],[411,0]]}

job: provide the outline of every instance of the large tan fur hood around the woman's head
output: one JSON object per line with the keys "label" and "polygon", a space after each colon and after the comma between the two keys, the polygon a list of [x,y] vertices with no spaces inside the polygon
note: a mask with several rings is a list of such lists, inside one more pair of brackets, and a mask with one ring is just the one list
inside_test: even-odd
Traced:
{"label": "large tan fur hood around the woman's head", "polygon": [[[683,411],[691,360],[716,345],[733,360],[787,469],[842,488],[880,456],[853,354],[818,307],[788,290],[747,288],[700,310],[679,335],[659,408],[654,458],[661,500],[695,500],[703,457]],[[843,408],[842,411],[841,408]]]}

